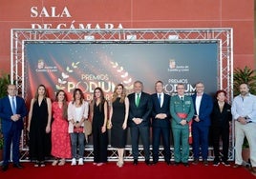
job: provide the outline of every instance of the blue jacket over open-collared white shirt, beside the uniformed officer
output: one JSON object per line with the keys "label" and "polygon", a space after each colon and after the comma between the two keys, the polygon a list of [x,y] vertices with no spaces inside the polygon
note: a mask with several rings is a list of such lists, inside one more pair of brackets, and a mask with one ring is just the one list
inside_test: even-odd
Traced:
{"label": "blue jacket over open-collared white shirt, beside the uniformed officer", "polygon": [[[195,109],[195,115],[197,115],[197,110],[196,110],[196,97],[197,94],[192,95],[192,99],[194,102],[194,109]],[[212,97],[208,94],[203,93],[202,100],[201,100],[201,105],[199,109],[199,119],[200,122],[195,122],[193,121],[192,125],[199,125],[199,126],[204,126],[204,127],[209,127],[210,126],[210,115],[212,112],[213,108],[213,102],[212,102]],[[195,117],[194,117],[195,118]]]}

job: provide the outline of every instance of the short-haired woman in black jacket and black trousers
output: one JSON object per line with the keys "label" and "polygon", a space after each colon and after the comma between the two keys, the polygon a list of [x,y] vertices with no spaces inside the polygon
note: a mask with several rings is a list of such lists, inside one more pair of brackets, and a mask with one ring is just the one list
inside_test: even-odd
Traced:
{"label": "short-haired woman in black jacket and black trousers", "polygon": [[231,106],[225,102],[226,92],[218,90],[216,92],[217,101],[213,105],[211,114],[211,129],[214,149],[214,166],[220,164],[220,138],[223,141],[223,157],[222,162],[224,166],[229,166],[228,147],[229,147],[229,126],[232,120]]}

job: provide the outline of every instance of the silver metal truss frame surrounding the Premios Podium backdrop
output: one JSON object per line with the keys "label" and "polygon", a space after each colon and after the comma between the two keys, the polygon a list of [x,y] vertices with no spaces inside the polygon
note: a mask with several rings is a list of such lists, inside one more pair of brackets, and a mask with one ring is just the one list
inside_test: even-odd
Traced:
{"label": "silver metal truss frame surrounding the Premios Podium backdrop", "polygon": [[[205,29],[102,29],[102,30],[11,30],[11,82],[15,82],[20,95],[26,98],[27,70],[24,58],[24,44],[26,41],[35,43],[207,43],[218,42],[218,89],[227,91],[228,102],[233,98],[233,29],[205,28]],[[26,125],[26,124],[25,124]],[[234,125],[230,136],[229,160],[234,159]],[[22,159],[26,160],[28,148],[26,135],[21,141]],[[108,148],[109,160],[117,160],[116,149]],[[92,145],[86,146],[85,160],[93,160]],[[172,160],[173,149],[171,148]],[[125,160],[132,160],[131,146],[125,148]],[[139,160],[143,158],[143,149],[139,146]],[[211,160],[213,151],[209,149]],[[190,152],[189,160],[193,159]],[[160,160],[163,158],[163,149],[160,147]]]}

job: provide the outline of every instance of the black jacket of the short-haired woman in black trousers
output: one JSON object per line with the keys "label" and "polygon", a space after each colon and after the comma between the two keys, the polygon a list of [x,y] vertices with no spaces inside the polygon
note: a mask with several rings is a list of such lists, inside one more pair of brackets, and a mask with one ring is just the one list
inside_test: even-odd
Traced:
{"label": "black jacket of the short-haired woman in black trousers", "polygon": [[229,121],[231,120],[231,106],[224,103],[224,109],[221,112],[218,102],[214,102],[211,113],[211,127],[229,129]]}

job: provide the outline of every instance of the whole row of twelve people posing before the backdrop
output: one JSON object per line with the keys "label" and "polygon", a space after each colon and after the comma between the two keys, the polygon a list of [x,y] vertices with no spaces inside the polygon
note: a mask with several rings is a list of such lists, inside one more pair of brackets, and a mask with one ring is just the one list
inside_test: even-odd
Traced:
{"label": "whole row of twelve people posing before the backdrop", "polygon": [[[58,90],[52,103],[45,86],[40,85],[31,101],[28,127],[30,158],[34,167],[44,167],[48,155],[54,157],[53,166],[63,166],[67,158],[72,166],[83,165],[85,148],[85,120],[92,121],[94,165],[107,162],[108,132],[111,129],[111,146],[117,149],[117,166],[122,167],[127,128],[130,128],[133,164],[139,164],[139,139],[143,146],[145,164],[159,162],[162,139],[164,161],[170,165],[170,132],[174,142],[174,165],[189,167],[189,140],[192,135],[193,165],[203,159],[208,166],[209,132],[212,131],[214,166],[228,163],[229,129],[235,121],[235,166],[242,166],[242,145],[246,136],[250,146],[252,171],[256,172],[256,96],[249,93],[249,87],[241,84],[240,95],[234,98],[232,106],[226,102],[226,91],[218,90],[215,100],[204,92],[204,85],[198,82],[192,96],[185,95],[183,84],[177,85],[177,94],[164,93],[161,81],[155,83],[156,92],[143,91],[143,83],[134,82],[134,92],[126,94],[122,84],[117,84],[113,97],[108,102],[102,89],[94,90],[91,102],[84,99],[81,89],[75,89],[73,100],[68,103],[64,90]],[[12,143],[13,167],[21,169],[19,163],[19,141],[28,110],[21,97],[16,96],[16,87],[8,86],[8,96],[0,100],[0,118],[4,136],[3,170],[9,168]],[[109,118],[109,121],[108,121]],[[152,127],[152,157],[150,161],[150,128]],[[220,138],[223,142],[220,157]]]}

